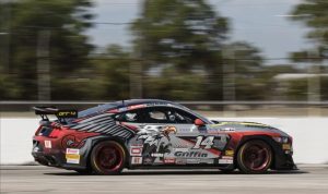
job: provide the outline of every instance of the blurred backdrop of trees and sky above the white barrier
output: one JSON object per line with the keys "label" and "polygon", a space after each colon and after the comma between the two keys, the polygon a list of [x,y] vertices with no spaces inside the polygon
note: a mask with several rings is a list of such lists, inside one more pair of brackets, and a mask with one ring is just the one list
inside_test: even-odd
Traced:
{"label": "blurred backdrop of trees and sky above the white barrier", "polygon": [[327,0],[0,0],[0,111],[160,98],[216,117],[326,117],[327,10]]}

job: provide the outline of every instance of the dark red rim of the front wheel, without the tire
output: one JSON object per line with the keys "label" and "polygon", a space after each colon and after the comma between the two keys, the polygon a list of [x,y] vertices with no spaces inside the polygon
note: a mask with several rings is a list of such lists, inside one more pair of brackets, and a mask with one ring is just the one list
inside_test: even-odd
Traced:
{"label": "dark red rim of the front wheel, without the tire", "polygon": [[261,171],[270,162],[270,150],[258,144],[251,144],[244,149],[243,163],[253,171]]}

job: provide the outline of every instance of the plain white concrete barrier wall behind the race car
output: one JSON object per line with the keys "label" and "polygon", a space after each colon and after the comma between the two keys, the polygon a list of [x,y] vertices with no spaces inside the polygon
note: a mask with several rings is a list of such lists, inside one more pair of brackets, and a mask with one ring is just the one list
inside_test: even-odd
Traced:
{"label": "plain white concrete barrier wall behind the race car", "polygon": [[[294,138],[294,160],[297,163],[328,162],[328,119],[326,118],[213,118],[224,121],[253,121],[276,126]],[[0,118],[0,163],[33,161],[32,136],[38,119]]]}

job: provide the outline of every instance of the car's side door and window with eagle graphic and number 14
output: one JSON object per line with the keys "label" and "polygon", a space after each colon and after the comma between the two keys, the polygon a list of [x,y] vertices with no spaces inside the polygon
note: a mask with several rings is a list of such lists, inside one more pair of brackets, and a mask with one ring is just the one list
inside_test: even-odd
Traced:
{"label": "car's side door and window with eagle graphic and number 14", "polygon": [[120,117],[138,131],[129,142],[132,165],[214,165],[226,144],[223,134],[195,125],[199,118],[175,107],[142,108]]}

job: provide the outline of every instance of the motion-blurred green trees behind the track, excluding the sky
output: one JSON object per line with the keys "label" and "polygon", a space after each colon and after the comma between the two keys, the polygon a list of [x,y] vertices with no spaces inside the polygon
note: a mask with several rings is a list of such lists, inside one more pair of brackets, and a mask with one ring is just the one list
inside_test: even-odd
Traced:
{"label": "motion-blurred green trees behind the track, excluding the sky", "polygon": [[[96,16],[92,7],[90,0],[0,3],[0,100],[272,100],[274,76],[308,72],[266,65],[258,48],[231,41],[231,21],[206,0],[144,0],[129,26],[131,47],[108,45],[99,51],[85,35]],[[312,28],[308,38],[315,41],[312,50],[291,53],[293,61],[327,57],[327,10],[323,0],[292,10],[301,15],[294,20]],[[325,78],[320,82],[328,86]],[[306,83],[291,82],[283,95],[303,100]],[[323,89],[323,99],[326,94]]]}

